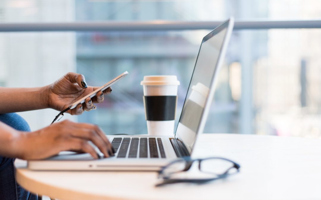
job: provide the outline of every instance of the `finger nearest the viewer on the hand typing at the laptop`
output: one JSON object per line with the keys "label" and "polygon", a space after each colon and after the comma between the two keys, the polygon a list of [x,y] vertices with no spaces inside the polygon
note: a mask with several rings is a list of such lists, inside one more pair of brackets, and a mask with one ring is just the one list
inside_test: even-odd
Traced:
{"label": "finger nearest the viewer on the hand typing at the laptop", "polygon": [[97,152],[90,144],[88,144],[87,140],[72,137],[65,140],[65,146],[67,147],[66,150],[83,151],[89,153],[93,158],[99,158]]}

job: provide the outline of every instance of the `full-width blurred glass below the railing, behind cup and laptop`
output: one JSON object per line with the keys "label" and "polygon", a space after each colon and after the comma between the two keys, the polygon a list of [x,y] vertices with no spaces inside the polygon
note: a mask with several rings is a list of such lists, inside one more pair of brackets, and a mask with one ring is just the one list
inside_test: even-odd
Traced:
{"label": "full-width blurred glass below the railing, behind cup and laptop", "polygon": [[[98,105],[99,109],[78,118],[99,124],[108,134],[143,134],[146,124],[139,84],[143,76],[178,76],[179,116],[198,51],[197,41],[200,43],[206,32],[128,33],[127,45],[122,43],[126,37],[122,34],[112,44],[95,40],[96,33],[86,33],[87,39],[83,39],[83,33],[2,33],[0,83],[6,87],[42,86],[68,71],[77,71],[85,75],[88,84],[102,85],[128,70],[130,76],[113,86],[112,94]],[[204,132],[319,138],[320,34],[318,29],[235,31]],[[100,38],[109,35],[100,33]],[[118,50],[113,52],[115,48]],[[126,49],[140,52],[131,50],[121,57]],[[35,130],[50,124],[56,114],[48,109],[22,116]]]}

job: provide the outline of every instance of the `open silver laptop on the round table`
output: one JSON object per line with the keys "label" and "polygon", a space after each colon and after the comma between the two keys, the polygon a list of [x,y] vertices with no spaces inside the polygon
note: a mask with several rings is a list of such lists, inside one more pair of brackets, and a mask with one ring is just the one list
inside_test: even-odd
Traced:
{"label": "open silver laptop on the round table", "polygon": [[[93,159],[86,153],[61,152],[44,160],[28,161],[28,168],[158,171],[161,166],[179,157],[191,156],[196,138],[204,130],[233,25],[234,20],[230,18],[204,36],[175,134],[159,137],[107,135],[116,150],[115,156]],[[99,151],[97,147],[96,149]]]}

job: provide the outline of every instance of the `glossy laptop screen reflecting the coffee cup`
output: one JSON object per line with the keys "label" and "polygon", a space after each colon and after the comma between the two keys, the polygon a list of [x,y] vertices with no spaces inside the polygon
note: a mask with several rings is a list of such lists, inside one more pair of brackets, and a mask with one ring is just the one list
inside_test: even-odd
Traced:
{"label": "glossy laptop screen reflecting the coffee cup", "polygon": [[184,142],[189,153],[192,151],[198,131],[203,131],[204,128],[201,128],[201,130],[199,126],[201,120],[206,120],[207,117],[207,114],[204,113],[204,108],[210,106],[206,105],[206,101],[209,98],[214,75],[218,72],[217,68],[220,67],[217,66],[217,63],[228,29],[228,23],[229,21],[223,23],[206,35],[198,52],[194,72],[175,133],[175,137]]}

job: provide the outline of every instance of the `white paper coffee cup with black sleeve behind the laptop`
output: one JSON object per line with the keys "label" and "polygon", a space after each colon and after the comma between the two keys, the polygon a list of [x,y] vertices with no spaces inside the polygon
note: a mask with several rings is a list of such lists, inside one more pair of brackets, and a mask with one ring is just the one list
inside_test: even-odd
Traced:
{"label": "white paper coffee cup with black sleeve behind the laptop", "polygon": [[173,135],[177,107],[176,76],[144,76],[143,101],[149,135]]}

